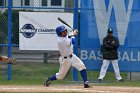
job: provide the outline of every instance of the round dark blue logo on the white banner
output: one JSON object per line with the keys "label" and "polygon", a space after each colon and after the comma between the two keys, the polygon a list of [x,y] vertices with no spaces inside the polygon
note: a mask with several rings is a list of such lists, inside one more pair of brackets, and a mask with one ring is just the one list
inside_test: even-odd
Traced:
{"label": "round dark blue logo on the white banner", "polygon": [[20,33],[23,34],[24,37],[26,38],[31,38],[35,35],[37,29],[32,24],[25,24],[21,30]]}

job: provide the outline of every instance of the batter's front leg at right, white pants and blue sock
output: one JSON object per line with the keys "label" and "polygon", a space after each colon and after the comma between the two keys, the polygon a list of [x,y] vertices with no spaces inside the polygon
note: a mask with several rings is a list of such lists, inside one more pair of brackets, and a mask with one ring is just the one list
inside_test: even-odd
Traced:
{"label": "batter's front leg at right, white pants and blue sock", "polygon": [[81,77],[84,81],[84,88],[89,88],[89,82],[87,79],[87,72],[84,63],[75,55],[71,58],[72,66],[75,67],[78,71],[80,71]]}

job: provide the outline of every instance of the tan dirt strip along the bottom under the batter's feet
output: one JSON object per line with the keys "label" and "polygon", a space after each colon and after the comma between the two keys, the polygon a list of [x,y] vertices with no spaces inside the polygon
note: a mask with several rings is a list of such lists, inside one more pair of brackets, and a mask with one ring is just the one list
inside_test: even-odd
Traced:
{"label": "tan dirt strip along the bottom under the batter's feet", "polygon": [[92,86],[85,89],[82,85],[52,85],[49,87],[0,85],[0,92],[140,93],[140,87]]}

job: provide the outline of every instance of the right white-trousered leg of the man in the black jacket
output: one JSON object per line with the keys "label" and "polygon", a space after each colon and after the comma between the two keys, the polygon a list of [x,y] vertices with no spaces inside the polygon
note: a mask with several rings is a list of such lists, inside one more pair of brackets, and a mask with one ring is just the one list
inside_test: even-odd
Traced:
{"label": "right white-trousered leg of the man in the black jacket", "polygon": [[115,76],[117,78],[117,80],[122,80],[122,77],[120,75],[120,70],[119,70],[119,66],[118,66],[118,60],[112,60],[111,61],[113,68],[114,68],[114,72],[115,72]]}

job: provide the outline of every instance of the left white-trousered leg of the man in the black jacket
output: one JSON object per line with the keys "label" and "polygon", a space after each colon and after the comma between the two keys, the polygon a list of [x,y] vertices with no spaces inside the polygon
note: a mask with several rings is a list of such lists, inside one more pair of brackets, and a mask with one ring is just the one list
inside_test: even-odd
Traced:
{"label": "left white-trousered leg of the man in the black jacket", "polygon": [[98,78],[99,81],[103,80],[103,78],[105,77],[106,71],[107,71],[108,66],[109,66],[109,63],[110,63],[110,60],[106,60],[106,59],[103,60],[101,70],[100,70],[100,75],[99,75],[99,78]]}

